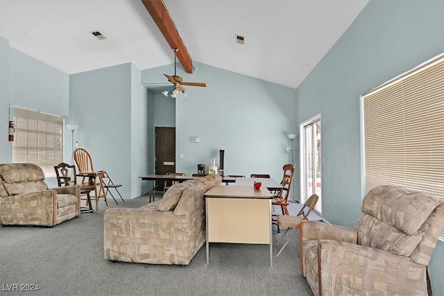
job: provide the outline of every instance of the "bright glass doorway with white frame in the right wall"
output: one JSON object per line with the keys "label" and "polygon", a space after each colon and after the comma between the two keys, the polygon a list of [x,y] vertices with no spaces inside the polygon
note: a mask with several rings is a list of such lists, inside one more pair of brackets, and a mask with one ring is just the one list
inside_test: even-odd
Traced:
{"label": "bright glass doorway with white frame in the right wall", "polygon": [[319,196],[314,211],[322,216],[322,151],[321,151],[321,114],[300,124],[300,171],[301,202],[312,194]]}

